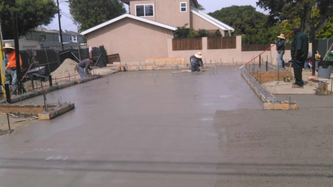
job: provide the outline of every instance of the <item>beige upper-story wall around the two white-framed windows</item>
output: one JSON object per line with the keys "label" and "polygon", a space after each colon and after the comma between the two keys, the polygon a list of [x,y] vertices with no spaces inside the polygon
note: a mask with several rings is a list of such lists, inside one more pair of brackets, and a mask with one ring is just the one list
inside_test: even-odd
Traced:
{"label": "beige upper-story wall around the two white-framed windows", "polygon": [[[186,12],[180,12],[180,2],[186,2]],[[154,4],[154,17],[142,17],[148,20],[163,23],[172,27],[181,27],[186,23],[189,28],[189,0],[145,0],[131,1],[130,13],[136,16],[136,6]]]}

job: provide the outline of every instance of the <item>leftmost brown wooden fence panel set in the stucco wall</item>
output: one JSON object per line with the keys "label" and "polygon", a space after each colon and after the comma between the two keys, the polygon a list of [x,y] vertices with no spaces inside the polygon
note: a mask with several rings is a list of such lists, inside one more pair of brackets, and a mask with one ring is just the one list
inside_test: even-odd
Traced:
{"label": "leftmost brown wooden fence panel set in the stucco wall", "polygon": [[202,50],[202,38],[172,39],[172,50]]}

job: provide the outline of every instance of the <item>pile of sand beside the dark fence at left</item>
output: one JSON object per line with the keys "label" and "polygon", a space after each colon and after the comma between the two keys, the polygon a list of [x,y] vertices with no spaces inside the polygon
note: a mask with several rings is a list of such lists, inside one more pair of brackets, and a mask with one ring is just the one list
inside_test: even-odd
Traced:
{"label": "pile of sand beside the dark fence at left", "polygon": [[63,61],[63,63],[51,73],[52,79],[54,78],[61,78],[61,77],[68,77],[68,74],[74,75],[74,67],[78,63],[70,58],[67,58]]}

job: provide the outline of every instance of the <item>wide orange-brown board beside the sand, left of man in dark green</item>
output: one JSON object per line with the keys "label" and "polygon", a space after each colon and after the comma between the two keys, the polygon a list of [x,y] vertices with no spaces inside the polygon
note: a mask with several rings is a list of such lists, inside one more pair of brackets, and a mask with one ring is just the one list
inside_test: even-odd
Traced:
{"label": "wide orange-brown board beside the sand, left of man in dark green", "polygon": [[250,74],[259,82],[265,83],[270,81],[278,81],[283,80],[284,77],[291,77],[290,71],[258,71],[258,72],[250,72]]}

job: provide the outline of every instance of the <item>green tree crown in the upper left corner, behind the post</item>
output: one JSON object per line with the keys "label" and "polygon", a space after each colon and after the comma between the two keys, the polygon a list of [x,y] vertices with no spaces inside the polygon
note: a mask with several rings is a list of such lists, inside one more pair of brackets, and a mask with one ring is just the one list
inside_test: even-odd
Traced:
{"label": "green tree crown in the upper left corner, behind the post", "polygon": [[18,35],[51,23],[57,13],[53,0],[0,0],[1,29],[4,40],[14,39],[13,11],[17,11]]}

